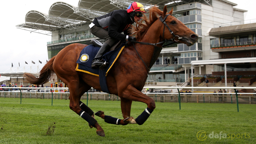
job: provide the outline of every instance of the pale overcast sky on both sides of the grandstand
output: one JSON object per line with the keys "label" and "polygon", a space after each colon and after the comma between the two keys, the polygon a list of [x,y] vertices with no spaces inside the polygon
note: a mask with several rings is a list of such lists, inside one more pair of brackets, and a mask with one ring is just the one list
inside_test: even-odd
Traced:
{"label": "pale overcast sky on both sides of the grandstand", "polygon": [[[79,0],[4,0],[2,1],[1,13],[1,46],[0,46],[0,73],[10,72],[12,69],[23,69],[24,66],[43,66],[48,60],[47,42],[51,41],[51,36],[30,33],[26,30],[18,29],[16,26],[25,23],[26,13],[30,10],[37,10],[48,14],[50,6],[54,2],[66,2],[73,6],[78,6]],[[236,3],[236,8],[248,10],[244,13],[245,20],[256,19],[256,0],[229,0]],[[31,61],[36,64],[32,64]],[[43,63],[40,64],[39,60]],[[25,61],[28,64],[25,64]],[[0,81],[9,79],[0,77]]]}

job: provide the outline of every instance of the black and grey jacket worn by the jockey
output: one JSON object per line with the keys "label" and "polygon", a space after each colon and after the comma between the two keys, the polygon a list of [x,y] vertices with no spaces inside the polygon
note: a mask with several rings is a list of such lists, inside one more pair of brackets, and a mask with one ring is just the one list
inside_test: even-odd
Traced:
{"label": "black and grey jacket worn by the jockey", "polygon": [[[125,9],[114,10],[93,20],[95,26],[108,30],[109,37],[119,40],[125,40],[126,35],[130,35],[130,24],[133,24],[130,15]],[[121,33],[124,33],[121,34]]]}

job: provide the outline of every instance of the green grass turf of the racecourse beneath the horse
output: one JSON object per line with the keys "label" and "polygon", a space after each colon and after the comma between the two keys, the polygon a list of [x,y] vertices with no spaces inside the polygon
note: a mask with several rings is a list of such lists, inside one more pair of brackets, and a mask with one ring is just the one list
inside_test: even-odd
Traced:
{"label": "green grass turf of the racecourse beneath the horse", "polygon": [[[236,104],[181,103],[180,110],[178,103],[156,102],[156,109],[143,125],[111,125],[96,117],[106,134],[100,137],[95,128],[90,129],[69,109],[69,100],[53,100],[53,106],[51,103],[47,99],[22,99],[20,104],[19,98],[0,98],[0,144],[256,143],[256,105],[240,104],[237,112]],[[92,100],[88,106],[122,118],[120,101]],[[133,102],[131,116],[136,118],[146,107]],[[201,130],[207,133],[204,141],[197,139]],[[209,138],[212,132],[215,137],[222,132],[230,138]],[[232,134],[243,134],[243,138],[231,139]]]}

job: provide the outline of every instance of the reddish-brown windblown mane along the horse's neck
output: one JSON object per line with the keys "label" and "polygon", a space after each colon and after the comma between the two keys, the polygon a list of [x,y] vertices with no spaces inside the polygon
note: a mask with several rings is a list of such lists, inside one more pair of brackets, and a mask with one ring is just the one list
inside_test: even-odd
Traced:
{"label": "reddish-brown windblown mane along the horse's neck", "polygon": [[132,35],[136,35],[135,37],[137,40],[144,37],[149,27],[159,18],[156,14],[163,14],[163,11],[158,9],[156,6],[149,8],[148,11],[149,18],[144,14],[142,20],[137,22],[135,26],[132,26]]}

